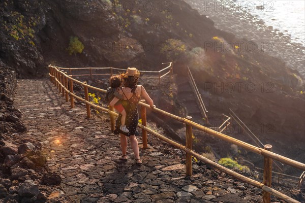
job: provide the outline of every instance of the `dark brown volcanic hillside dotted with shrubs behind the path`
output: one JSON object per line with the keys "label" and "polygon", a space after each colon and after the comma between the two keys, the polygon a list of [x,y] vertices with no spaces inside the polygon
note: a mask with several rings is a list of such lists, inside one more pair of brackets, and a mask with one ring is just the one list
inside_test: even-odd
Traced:
{"label": "dark brown volcanic hillside dotted with shrubs behind the path", "polygon": [[[256,129],[265,127],[257,133],[266,143],[289,140],[303,148],[300,75],[257,44],[216,29],[183,1],[2,1],[0,22],[0,61],[19,78],[46,76],[50,63],[160,70],[173,60],[178,75],[191,67],[210,112],[232,108]],[[81,54],[66,51],[71,36],[84,45]],[[304,161],[297,148],[289,154]]]}

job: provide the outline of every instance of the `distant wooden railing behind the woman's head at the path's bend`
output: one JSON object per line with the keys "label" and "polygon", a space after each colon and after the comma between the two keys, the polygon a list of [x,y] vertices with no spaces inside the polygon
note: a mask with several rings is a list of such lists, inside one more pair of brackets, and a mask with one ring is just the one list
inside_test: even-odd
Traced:
{"label": "distant wooden railing behind the woman's head at the path's bend", "polygon": [[[168,64],[164,69],[160,71],[139,71],[141,78],[155,78],[159,79],[159,85],[161,85],[161,79],[168,74],[173,73],[173,63],[172,62],[166,62],[162,64]],[[66,70],[69,71],[69,75],[72,77],[76,76],[90,76],[90,79],[92,80],[94,76],[112,76],[115,73],[117,74],[120,71],[125,71],[126,69],[117,69],[115,67],[58,67],[60,70]],[[79,72],[81,70],[88,70],[88,74],[73,74],[73,72]],[[109,73],[104,74],[97,74],[94,73],[94,71],[108,71]],[[153,76],[146,76],[146,75],[153,75]],[[155,76],[154,76],[155,75]]]}

